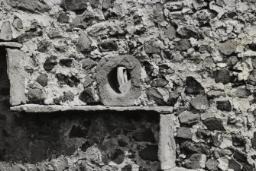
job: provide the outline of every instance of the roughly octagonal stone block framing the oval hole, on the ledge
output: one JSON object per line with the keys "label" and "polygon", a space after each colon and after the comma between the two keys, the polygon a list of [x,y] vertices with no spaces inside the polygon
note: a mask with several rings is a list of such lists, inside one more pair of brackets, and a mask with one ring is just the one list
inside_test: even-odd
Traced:
{"label": "roughly octagonal stone block framing the oval hole, on the ledge", "polygon": [[[117,80],[112,78],[113,68],[122,65],[131,74],[131,88],[126,93],[118,93],[112,84]],[[114,73],[115,74],[115,73]],[[99,99],[106,106],[133,106],[134,100],[141,95],[141,63],[131,55],[113,56],[101,59],[96,68]],[[110,81],[110,82],[109,82]]]}

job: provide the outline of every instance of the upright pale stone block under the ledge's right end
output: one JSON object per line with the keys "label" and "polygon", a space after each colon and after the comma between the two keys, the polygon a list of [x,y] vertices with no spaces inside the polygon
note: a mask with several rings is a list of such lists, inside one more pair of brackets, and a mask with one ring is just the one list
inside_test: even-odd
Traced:
{"label": "upright pale stone block under the ledge's right end", "polygon": [[173,114],[160,115],[158,158],[161,169],[174,168],[176,160],[176,144],[174,140]]}

